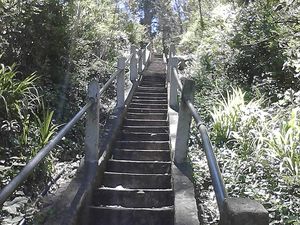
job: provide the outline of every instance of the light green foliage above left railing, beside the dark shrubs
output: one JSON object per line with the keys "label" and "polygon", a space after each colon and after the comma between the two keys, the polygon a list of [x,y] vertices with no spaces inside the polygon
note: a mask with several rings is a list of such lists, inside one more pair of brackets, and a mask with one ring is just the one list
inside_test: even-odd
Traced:
{"label": "light green foliage above left railing, beside the dark shrubs", "polygon": [[[68,9],[71,42],[56,112],[58,119],[66,121],[85,99],[88,82],[96,78],[104,84],[115,70],[117,57],[128,55],[130,44],[137,45],[144,31],[116,1],[78,0]],[[113,98],[110,90],[104,101]]]}

